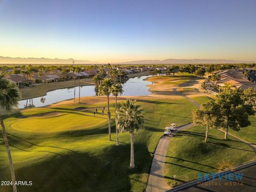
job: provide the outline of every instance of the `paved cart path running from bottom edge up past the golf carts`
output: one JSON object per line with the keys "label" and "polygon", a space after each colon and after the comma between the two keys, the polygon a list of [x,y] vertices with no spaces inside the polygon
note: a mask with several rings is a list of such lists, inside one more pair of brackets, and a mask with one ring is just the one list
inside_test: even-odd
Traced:
{"label": "paved cart path running from bottom edge up past the golf carts", "polygon": [[[186,125],[181,125],[177,127],[177,132],[181,130],[188,129],[189,127],[194,126],[193,123],[189,123]],[[176,133],[177,133],[176,132]],[[167,137],[162,136],[158,142],[158,145],[155,150],[155,154],[153,157],[150,175],[148,179],[148,185],[146,188],[147,192],[160,192],[170,190],[171,187],[167,185],[164,179],[165,172],[165,156],[167,153],[167,147],[175,134]]]}

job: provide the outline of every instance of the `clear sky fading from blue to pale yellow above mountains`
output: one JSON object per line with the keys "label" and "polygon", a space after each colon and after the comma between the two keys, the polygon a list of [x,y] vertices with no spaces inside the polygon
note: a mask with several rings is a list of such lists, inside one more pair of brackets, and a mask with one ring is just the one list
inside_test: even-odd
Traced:
{"label": "clear sky fading from blue to pale yellow above mountains", "polygon": [[256,0],[0,0],[0,55],[256,60]]}

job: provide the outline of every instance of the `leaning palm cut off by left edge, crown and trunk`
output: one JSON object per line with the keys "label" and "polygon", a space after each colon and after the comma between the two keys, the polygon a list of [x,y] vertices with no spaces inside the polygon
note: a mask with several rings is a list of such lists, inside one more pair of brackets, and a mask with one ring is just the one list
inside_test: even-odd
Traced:
{"label": "leaning palm cut off by left edge, crown and trunk", "polygon": [[[14,107],[17,107],[20,97],[21,97],[21,95],[20,95],[20,91],[19,91],[17,85],[11,83],[9,80],[4,78],[4,74],[0,74],[0,107],[4,108],[6,111],[8,111],[10,113]],[[4,144],[5,144],[7,155],[9,158],[9,165],[10,165],[11,177],[12,177],[12,183],[13,183],[13,185],[12,185],[13,191],[17,191],[17,188],[14,185],[15,174],[14,174],[14,169],[13,169],[11,151],[9,148],[9,143],[7,140],[7,135],[5,132],[5,127],[4,127],[4,121],[3,121],[1,114],[0,114],[0,123],[1,123],[1,127],[2,127]]]}

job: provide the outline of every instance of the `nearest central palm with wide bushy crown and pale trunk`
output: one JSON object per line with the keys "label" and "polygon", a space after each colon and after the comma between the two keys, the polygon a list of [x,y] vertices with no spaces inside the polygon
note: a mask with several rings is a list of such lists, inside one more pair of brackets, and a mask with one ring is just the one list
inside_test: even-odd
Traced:
{"label": "nearest central palm with wide bushy crown and pale trunk", "polygon": [[131,161],[130,167],[134,165],[134,149],[133,149],[133,138],[134,131],[144,127],[144,117],[141,114],[139,105],[135,104],[136,101],[126,100],[121,103],[120,109],[117,111],[117,123],[120,132],[129,131],[131,137]]}

